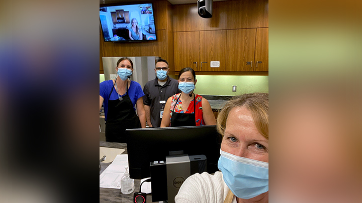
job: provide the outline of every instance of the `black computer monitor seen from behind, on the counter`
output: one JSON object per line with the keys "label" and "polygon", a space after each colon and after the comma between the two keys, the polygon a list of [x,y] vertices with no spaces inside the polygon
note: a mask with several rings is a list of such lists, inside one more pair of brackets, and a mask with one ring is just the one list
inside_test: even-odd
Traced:
{"label": "black computer monitor seen from behind, on the counter", "polygon": [[150,162],[166,160],[170,151],[205,155],[207,172],[218,171],[221,135],[215,125],[127,129],[127,154],[130,177],[150,177]]}

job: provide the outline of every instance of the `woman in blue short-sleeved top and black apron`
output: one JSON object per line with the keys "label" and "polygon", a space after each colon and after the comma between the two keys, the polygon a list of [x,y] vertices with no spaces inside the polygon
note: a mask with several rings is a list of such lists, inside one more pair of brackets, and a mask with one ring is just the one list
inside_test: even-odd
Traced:
{"label": "woman in blue short-sleeved top and black apron", "polygon": [[131,59],[123,57],[118,60],[116,71],[115,80],[100,83],[100,110],[104,103],[106,141],[126,143],[126,129],[146,127],[144,93],[139,83],[129,80],[133,71]]}

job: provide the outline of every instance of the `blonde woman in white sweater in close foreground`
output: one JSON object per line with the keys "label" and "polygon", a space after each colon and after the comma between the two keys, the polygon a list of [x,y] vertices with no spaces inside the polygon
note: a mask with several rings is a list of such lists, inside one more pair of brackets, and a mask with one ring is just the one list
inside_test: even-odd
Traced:
{"label": "blonde woman in white sweater in close foreground", "polygon": [[224,106],[217,118],[223,136],[221,172],[188,177],[175,196],[176,203],[268,202],[268,109],[266,93],[235,96]]}

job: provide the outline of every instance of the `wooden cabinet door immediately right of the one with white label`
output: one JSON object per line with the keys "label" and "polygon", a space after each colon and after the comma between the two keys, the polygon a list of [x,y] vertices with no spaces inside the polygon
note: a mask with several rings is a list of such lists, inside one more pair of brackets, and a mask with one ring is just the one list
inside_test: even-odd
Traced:
{"label": "wooden cabinet door immediately right of the one with white label", "polygon": [[253,71],[256,29],[227,31],[226,71]]}

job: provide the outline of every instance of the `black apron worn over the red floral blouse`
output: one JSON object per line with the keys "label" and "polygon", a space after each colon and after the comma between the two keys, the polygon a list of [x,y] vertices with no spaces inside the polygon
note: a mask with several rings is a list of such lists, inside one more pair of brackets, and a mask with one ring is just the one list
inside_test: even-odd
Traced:
{"label": "black apron worn over the red floral blouse", "polygon": [[[180,94],[180,96],[181,96],[181,94]],[[176,113],[176,112],[174,112],[174,108],[176,107],[177,101],[180,96],[178,96],[176,103],[172,110],[171,127],[196,126],[195,94],[194,94],[194,113]],[[186,112],[186,111],[184,110],[184,112]]]}

